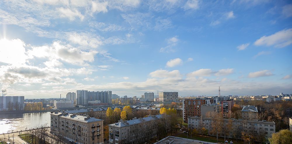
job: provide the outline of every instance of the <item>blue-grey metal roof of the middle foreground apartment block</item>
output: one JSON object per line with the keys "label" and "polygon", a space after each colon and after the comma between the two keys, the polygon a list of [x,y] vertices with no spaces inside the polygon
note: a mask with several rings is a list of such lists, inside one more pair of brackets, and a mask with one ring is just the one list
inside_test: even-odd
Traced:
{"label": "blue-grey metal roof of the middle foreground apartment block", "polygon": [[143,121],[147,122],[150,120],[157,120],[160,119],[162,117],[162,115],[149,115],[148,117],[143,117],[143,118],[134,118],[133,120],[127,120],[127,121],[123,121],[121,120],[118,123],[114,123],[114,124],[109,124],[109,126],[113,126],[113,127],[127,127],[129,125],[134,125],[134,124],[139,124]]}

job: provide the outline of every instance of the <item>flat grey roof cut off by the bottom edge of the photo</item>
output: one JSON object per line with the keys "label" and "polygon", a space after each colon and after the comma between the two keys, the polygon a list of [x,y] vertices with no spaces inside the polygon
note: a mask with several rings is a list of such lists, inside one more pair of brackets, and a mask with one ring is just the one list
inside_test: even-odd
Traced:
{"label": "flat grey roof cut off by the bottom edge of the photo", "polygon": [[175,136],[168,136],[166,138],[163,138],[162,140],[154,143],[154,144],[217,144],[217,143],[211,143],[211,142],[206,142],[206,141],[198,141],[198,140],[192,140],[192,139],[187,139],[187,138],[179,138]]}

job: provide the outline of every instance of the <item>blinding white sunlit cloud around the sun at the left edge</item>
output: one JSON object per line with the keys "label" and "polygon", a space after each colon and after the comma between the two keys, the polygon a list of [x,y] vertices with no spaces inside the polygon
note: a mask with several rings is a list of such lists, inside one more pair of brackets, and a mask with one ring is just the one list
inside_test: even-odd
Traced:
{"label": "blinding white sunlit cloud around the sun at the left edge", "polygon": [[20,39],[0,40],[0,62],[20,65],[28,58],[25,51],[25,43]]}

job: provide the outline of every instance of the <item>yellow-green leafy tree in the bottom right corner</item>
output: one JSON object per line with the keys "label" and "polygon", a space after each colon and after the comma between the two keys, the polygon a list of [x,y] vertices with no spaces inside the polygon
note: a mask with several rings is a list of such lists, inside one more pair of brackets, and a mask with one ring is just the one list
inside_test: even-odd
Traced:
{"label": "yellow-green leafy tree in the bottom right corner", "polygon": [[282,129],[281,131],[272,135],[272,138],[269,138],[271,144],[286,144],[292,143],[292,132],[288,129]]}

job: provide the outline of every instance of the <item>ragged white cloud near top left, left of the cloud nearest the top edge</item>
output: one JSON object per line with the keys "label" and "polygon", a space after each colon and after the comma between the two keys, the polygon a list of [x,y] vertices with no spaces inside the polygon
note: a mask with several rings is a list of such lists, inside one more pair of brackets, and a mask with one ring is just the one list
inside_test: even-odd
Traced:
{"label": "ragged white cloud near top left, left of the cloud nearest the top edge", "polygon": [[70,21],[75,20],[75,17],[79,17],[82,21],[84,16],[77,9],[69,9],[69,8],[56,8],[56,10],[60,13],[60,17],[67,17]]}

